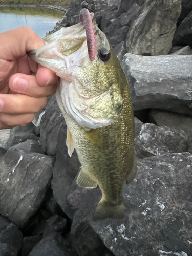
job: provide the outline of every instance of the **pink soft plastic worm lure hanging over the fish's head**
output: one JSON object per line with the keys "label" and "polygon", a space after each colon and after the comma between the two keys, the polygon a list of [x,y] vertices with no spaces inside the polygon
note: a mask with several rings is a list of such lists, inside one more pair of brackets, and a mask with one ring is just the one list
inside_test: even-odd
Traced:
{"label": "pink soft plastic worm lure hanging over the fish's head", "polygon": [[93,61],[95,59],[95,35],[92,18],[88,9],[83,8],[80,11],[80,21],[83,22],[84,29],[86,30],[89,59]]}

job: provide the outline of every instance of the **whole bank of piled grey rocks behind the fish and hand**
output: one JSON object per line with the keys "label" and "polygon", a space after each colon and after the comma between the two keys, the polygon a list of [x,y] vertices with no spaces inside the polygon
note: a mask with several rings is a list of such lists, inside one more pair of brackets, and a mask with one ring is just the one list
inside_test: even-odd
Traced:
{"label": "whole bank of piled grey rocks behind the fish and hand", "polygon": [[[71,3],[53,31],[78,20]],[[137,176],[122,220],[91,218],[98,188],[76,184],[53,96],[33,123],[0,131],[1,256],[192,255],[190,0],[88,0],[129,81]],[[51,32],[50,32],[51,33]]]}

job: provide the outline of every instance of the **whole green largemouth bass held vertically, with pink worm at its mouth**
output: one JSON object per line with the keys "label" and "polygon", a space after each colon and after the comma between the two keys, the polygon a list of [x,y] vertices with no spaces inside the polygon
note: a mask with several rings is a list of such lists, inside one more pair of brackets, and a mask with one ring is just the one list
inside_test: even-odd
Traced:
{"label": "whole green largemouth bass held vertically, with pink worm at its mouth", "polygon": [[28,56],[60,77],[56,98],[67,124],[68,153],[75,149],[82,165],[77,184],[99,186],[102,193],[93,220],[121,219],[122,188],[137,170],[130,89],[94,14],[82,9],[80,17]]}

